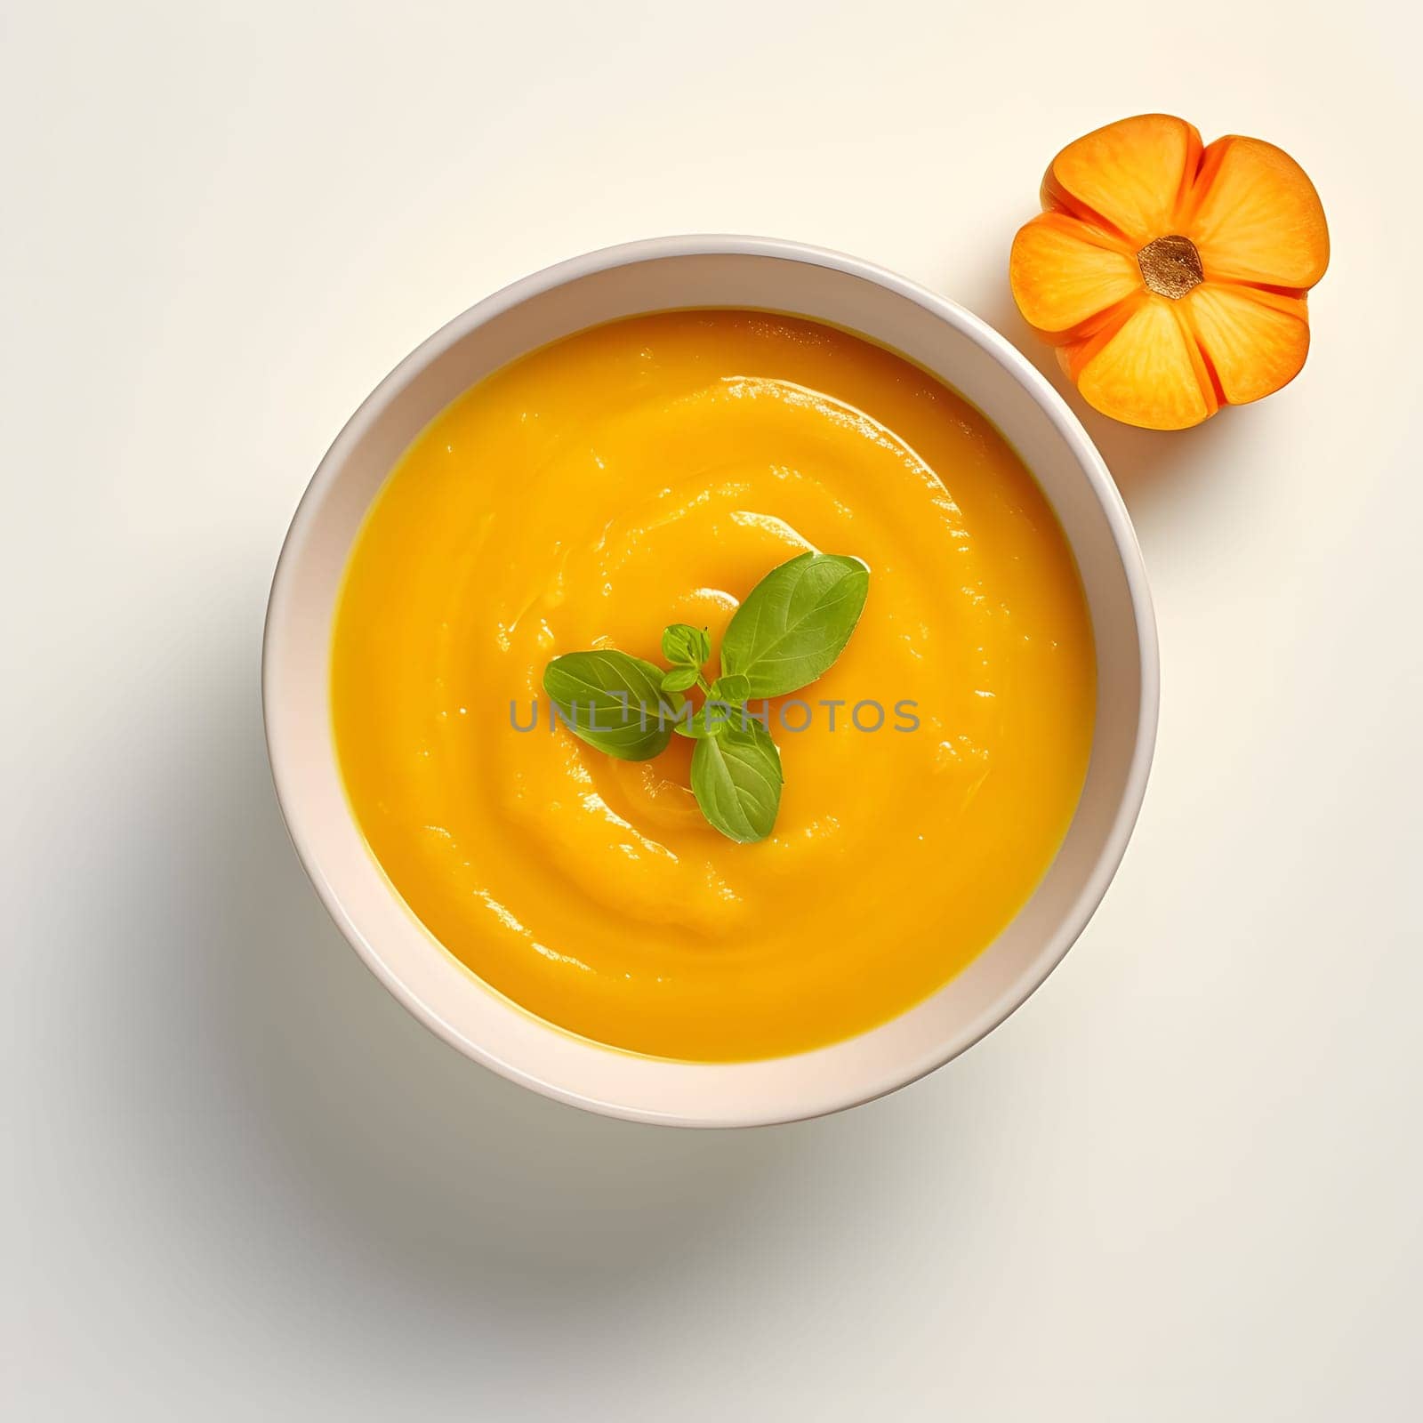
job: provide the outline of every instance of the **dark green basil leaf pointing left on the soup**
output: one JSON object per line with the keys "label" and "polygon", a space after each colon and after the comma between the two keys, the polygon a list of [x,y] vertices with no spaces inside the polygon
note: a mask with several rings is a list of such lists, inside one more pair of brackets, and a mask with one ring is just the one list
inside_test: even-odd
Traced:
{"label": "dark green basil leaf pointing left on the soup", "polygon": [[544,690],[573,736],[620,761],[647,761],[665,751],[675,713],[686,700],[663,694],[662,667],[625,652],[569,652],[544,669]]}

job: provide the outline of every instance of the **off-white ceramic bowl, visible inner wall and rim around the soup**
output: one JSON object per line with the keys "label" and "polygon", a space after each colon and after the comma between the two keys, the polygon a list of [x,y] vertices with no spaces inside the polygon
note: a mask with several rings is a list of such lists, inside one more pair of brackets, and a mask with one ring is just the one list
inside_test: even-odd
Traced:
{"label": "off-white ceramic bowl, visible inner wall and rim around the soup", "polygon": [[[1081,569],[1097,642],[1097,724],[1081,803],[1033,898],[965,972],[872,1032],[793,1057],[679,1063],[615,1052],[511,1006],[391,891],[351,820],[332,744],[330,629],[342,571],[407,444],[481,377],[559,336],[689,306],[761,307],[861,332],[979,407],[1037,477]],[[1136,822],[1155,740],[1146,571],[1086,431],[1002,336],[855,258],[763,238],[633,242],[515,282],[430,337],[371,393],[316,471],[272,585],[262,659],[268,750],[312,882],[377,978],[475,1062],[561,1101],[639,1121],[753,1126],[868,1101],[946,1063],[1037,988],[1087,924]]]}

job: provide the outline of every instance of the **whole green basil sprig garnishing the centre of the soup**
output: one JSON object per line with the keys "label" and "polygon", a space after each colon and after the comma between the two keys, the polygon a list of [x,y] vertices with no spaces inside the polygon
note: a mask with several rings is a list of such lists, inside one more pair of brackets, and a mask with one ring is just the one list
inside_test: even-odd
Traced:
{"label": "whole green basil sprig garnishing the centre of the soup", "polygon": [[[623,652],[571,652],[544,669],[544,690],[568,729],[625,761],[666,750],[672,733],[692,737],[692,794],[730,840],[770,835],[781,804],[781,754],[764,713],[748,700],[787,696],[822,676],[845,650],[869,593],[869,569],[841,554],[801,554],[773,568],[736,610],[721,639],[720,676],[710,684],[704,628],[672,623],[662,635],[663,670]],[[693,709],[684,692],[704,694]]]}

